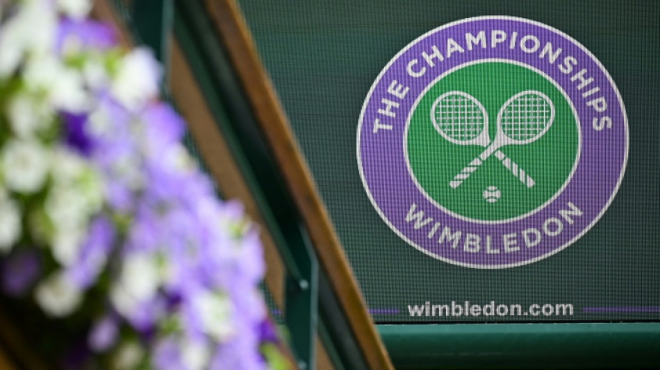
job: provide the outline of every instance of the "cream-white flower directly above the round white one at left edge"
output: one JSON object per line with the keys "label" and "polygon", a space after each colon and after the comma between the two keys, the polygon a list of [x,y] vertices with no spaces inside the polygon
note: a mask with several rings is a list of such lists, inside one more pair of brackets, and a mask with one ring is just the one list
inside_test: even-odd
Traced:
{"label": "cream-white flower directly above the round white one at left edge", "polygon": [[9,123],[18,137],[29,138],[53,122],[48,104],[28,94],[17,94],[7,107]]}

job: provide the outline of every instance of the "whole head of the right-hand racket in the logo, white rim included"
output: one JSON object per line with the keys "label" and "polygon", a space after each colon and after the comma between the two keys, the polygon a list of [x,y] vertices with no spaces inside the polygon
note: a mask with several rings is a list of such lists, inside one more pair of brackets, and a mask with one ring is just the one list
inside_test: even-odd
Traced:
{"label": "whole head of the right-hand racket in the logo, white rim included", "polygon": [[554,122],[554,104],[536,90],[509,98],[497,114],[500,132],[510,144],[529,144],[545,135]]}

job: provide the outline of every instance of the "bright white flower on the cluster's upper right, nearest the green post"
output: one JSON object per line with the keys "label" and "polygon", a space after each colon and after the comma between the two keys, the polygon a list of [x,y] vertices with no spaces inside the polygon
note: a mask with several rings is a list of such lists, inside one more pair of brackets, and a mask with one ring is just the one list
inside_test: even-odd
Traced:
{"label": "bright white flower on the cluster's upper right, nearest the green post", "polygon": [[148,49],[138,48],[124,56],[113,79],[111,92],[120,103],[138,110],[158,94],[160,65]]}

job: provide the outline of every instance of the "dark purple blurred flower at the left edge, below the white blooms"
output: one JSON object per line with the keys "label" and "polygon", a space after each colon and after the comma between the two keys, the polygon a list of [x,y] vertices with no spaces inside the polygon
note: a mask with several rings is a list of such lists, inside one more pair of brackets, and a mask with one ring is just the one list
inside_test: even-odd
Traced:
{"label": "dark purple blurred flower at the left edge, below the white blooms", "polygon": [[10,296],[22,296],[41,272],[41,260],[34,249],[15,251],[2,264],[2,288]]}

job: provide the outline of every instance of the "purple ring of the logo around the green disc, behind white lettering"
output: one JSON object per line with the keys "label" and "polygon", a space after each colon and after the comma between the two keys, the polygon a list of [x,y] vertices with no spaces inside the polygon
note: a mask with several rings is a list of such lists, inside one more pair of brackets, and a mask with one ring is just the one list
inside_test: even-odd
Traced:
{"label": "purple ring of the logo around the green disc, behind white lettering", "polygon": [[[581,99],[577,90],[572,89],[572,83],[569,80],[570,74],[561,74],[559,69],[556,68],[558,64],[549,65],[547,60],[538,58],[535,54],[524,54],[517,49],[511,51],[509,48],[502,47],[499,49],[474,49],[466,53],[455,53],[452,58],[445,59],[442,66],[436,65],[435,69],[429,69],[427,74],[418,79],[414,79],[404,72],[405,65],[409,61],[406,56],[412,54],[413,57],[418,57],[421,51],[429,51],[431,44],[443,44],[436,43],[436,40],[444,41],[447,37],[461,40],[467,32],[476,35],[479,31],[486,31],[487,34],[490,34],[490,31],[494,29],[505,31],[507,35],[511,35],[513,31],[519,31],[521,37],[522,32],[536,35],[541,40],[541,45],[545,44],[546,41],[550,41],[555,48],[561,47],[563,49],[562,56],[574,56],[578,60],[578,67],[588,70],[589,75],[594,77],[609,102],[608,113],[613,117],[613,127],[607,131],[609,135],[599,135],[603,132],[591,129],[592,116],[589,111],[591,108],[586,106],[586,100]],[[525,58],[520,58],[520,56]],[[575,175],[555,201],[535,215],[512,221],[509,224],[498,225],[475,224],[474,222],[455,219],[438,210],[417,190],[413,180],[407,174],[402,176],[402,169],[406,169],[406,165],[402,154],[403,142],[399,140],[398,133],[397,135],[388,135],[388,138],[386,137],[383,140],[385,135],[369,135],[370,126],[363,124],[364,122],[372,122],[376,117],[379,99],[374,99],[374,96],[384,96],[389,83],[393,79],[411,87],[408,96],[413,97],[406,97],[401,101],[401,106],[398,108],[399,112],[408,112],[416,100],[415,96],[424,90],[424,87],[430,81],[433,81],[436,76],[466,62],[490,58],[523,62],[553,78],[568,93],[574,103],[581,120],[583,137],[582,157]],[[613,102],[618,102],[618,104],[613,104]],[[407,114],[402,113],[399,117],[407,117]],[[404,127],[405,124],[395,125],[395,130],[398,129],[402,136]],[[363,131],[367,135],[362,135]],[[625,137],[624,145],[621,145],[621,137]],[[608,150],[602,151],[600,150],[602,148]],[[361,151],[361,149],[365,150]],[[452,24],[440,26],[418,37],[417,40],[411,42],[395,58],[390,60],[385,69],[379,74],[374,85],[372,85],[368,98],[365,100],[358,126],[358,166],[360,167],[363,185],[383,220],[397,235],[415,246],[415,248],[420,249],[420,251],[446,262],[476,268],[513,267],[534,262],[566,248],[581,235],[584,235],[597,219],[600,219],[602,213],[616,195],[625,171],[627,149],[628,128],[625,107],[607,70],[602,67],[593,54],[568,35],[545,24],[515,17],[496,16],[462,19]],[[392,153],[401,153],[401,155],[394,156]],[[589,186],[594,179],[599,180],[600,184]],[[516,253],[485,255],[484,253],[465,253],[459,248],[450,249],[447,246],[437,244],[434,240],[427,239],[423,232],[417,231],[415,233],[411,225],[403,221],[411,203],[415,203],[434,220],[440,221],[443,225],[451,226],[452,230],[455,228],[456,230],[463,230],[464,233],[469,232],[478,235],[487,233],[492,235],[493,239],[501,239],[502,235],[511,233],[512,230],[523,230],[527,227],[539,228],[544,219],[548,217],[548,213],[556,215],[559,208],[565,207],[568,201],[576,203],[575,199],[580,200],[577,205],[583,210],[584,216],[576,219],[575,224],[570,226],[570,230],[567,228],[560,235],[550,239],[545,237],[544,240],[550,242],[544,242],[534,247],[534,249],[521,249]],[[583,202],[585,199],[588,199],[588,203]]]}

